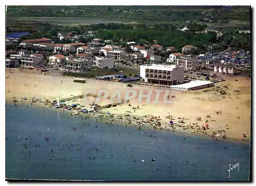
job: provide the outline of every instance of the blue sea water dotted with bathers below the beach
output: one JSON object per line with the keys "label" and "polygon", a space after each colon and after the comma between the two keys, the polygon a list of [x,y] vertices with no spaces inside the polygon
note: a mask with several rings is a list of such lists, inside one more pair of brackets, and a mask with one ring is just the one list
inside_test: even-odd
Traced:
{"label": "blue sea water dotted with bathers below the beach", "polygon": [[[175,132],[109,126],[61,109],[6,105],[6,178],[246,181],[249,158],[249,144],[198,136],[184,139]],[[237,163],[239,170],[232,167]]]}

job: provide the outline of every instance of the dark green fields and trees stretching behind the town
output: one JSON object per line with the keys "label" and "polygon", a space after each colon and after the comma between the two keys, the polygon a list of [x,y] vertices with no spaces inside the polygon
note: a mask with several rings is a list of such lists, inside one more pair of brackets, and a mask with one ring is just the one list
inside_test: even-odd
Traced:
{"label": "dark green fields and trees stretching behind the town", "polygon": [[[250,35],[238,32],[239,30],[250,30],[247,25],[250,20],[249,8],[248,6],[9,6],[6,32],[30,32],[31,36],[23,38],[46,37],[55,43],[70,42],[59,41],[57,32],[78,31],[79,35],[84,35],[79,37],[79,41],[85,43],[93,38],[101,38],[103,40],[111,39],[113,44],[123,47],[127,46],[126,41],[135,41],[148,48],[154,43],[153,40],[157,40],[157,44],[164,47],[174,46],[179,52],[182,46],[187,44],[198,47],[195,53],[225,50],[228,46],[249,50]],[[118,21],[125,19],[126,21],[136,20],[137,23],[63,26],[39,21],[14,20],[17,16],[40,16],[38,19],[41,19],[41,16],[49,16],[49,20],[52,21],[52,19],[61,20],[61,17],[65,16],[65,21],[70,20],[72,23],[74,22],[72,17],[78,15],[78,18],[83,18],[84,22],[88,18],[94,17],[99,21],[101,19],[116,19]],[[238,26],[240,23],[243,23],[242,27]],[[221,27],[223,24],[227,24],[229,27]],[[177,30],[184,26],[189,31]],[[200,33],[205,29],[208,30],[207,34]],[[221,31],[223,35],[218,37],[216,32],[211,32],[214,30]],[[86,36],[88,31],[96,32],[93,34],[94,36]],[[209,50],[210,48],[211,50]]]}

